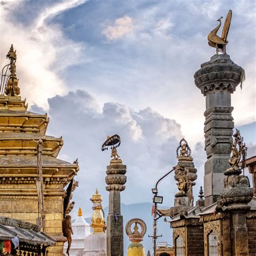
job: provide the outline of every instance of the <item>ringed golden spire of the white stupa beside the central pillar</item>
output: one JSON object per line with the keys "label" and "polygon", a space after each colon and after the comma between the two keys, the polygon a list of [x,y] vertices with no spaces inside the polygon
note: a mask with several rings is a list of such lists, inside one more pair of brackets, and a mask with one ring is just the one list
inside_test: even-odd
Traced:
{"label": "ringed golden spire of the white stupa beside the central pillar", "polygon": [[102,210],[102,195],[99,194],[97,188],[95,194],[93,194],[90,200],[93,203],[93,213],[91,217],[91,227],[93,229],[93,233],[104,233],[106,223],[104,219],[104,213]]}

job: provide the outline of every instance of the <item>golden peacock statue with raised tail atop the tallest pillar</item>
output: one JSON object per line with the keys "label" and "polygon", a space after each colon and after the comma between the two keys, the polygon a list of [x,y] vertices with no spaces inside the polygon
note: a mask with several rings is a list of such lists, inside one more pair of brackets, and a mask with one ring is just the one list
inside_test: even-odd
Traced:
{"label": "golden peacock statue with raised tail atop the tallest pillar", "polygon": [[230,24],[231,24],[231,18],[232,18],[232,10],[228,11],[227,17],[225,19],[225,23],[223,25],[223,30],[221,33],[221,37],[217,35],[217,32],[219,31],[219,28],[221,26],[221,19],[223,17],[220,17],[217,19],[217,22],[219,22],[219,25],[213,29],[210,33],[208,33],[207,39],[208,39],[208,45],[210,45],[213,48],[216,48],[216,53],[218,54],[219,51],[226,53],[226,44],[227,41],[227,34],[230,30]]}

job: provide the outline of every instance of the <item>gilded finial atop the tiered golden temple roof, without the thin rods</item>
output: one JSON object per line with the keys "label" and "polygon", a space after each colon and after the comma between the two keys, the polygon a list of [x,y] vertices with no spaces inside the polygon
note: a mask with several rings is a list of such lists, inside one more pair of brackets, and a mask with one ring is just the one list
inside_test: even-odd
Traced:
{"label": "gilded finial atop the tiered golden temple roof, without the thin rods", "polygon": [[18,87],[18,79],[16,76],[16,51],[14,51],[14,47],[11,45],[11,48],[9,52],[6,55],[6,58],[10,59],[10,76],[8,78],[8,81],[5,86],[5,91],[4,93],[7,96],[18,96],[21,90]]}

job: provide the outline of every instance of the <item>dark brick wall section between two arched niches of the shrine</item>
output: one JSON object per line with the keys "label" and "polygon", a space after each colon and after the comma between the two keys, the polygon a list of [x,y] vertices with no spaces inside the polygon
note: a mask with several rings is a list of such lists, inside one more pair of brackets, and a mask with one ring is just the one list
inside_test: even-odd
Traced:
{"label": "dark brick wall section between two arched niches of the shrine", "polygon": [[188,255],[204,256],[204,227],[187,226]]}

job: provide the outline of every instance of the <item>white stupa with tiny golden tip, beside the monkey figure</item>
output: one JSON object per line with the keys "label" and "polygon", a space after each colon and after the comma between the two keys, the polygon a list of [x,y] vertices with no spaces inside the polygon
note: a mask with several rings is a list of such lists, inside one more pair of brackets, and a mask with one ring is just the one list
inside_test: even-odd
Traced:
{"label": "white stupa with tiny golden tip, beside the monkey figure", "polygon": [[[87,235],[91,234],[90,224],[83,218],[83,213],[81,207],[78,210],[78,218],[72,223],[72,242],[69,250],[70,256],[82,256],[84,251],[84,239]],[[66,245],[67,243],[65,243]],[[66,252],[66,246],[64,247],[64,252]]]}

